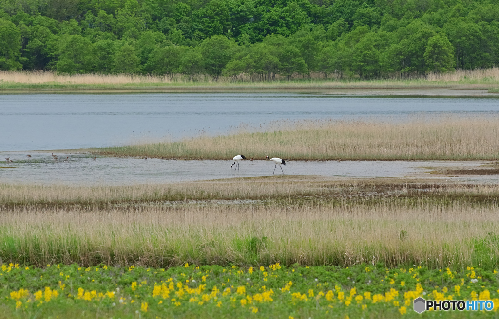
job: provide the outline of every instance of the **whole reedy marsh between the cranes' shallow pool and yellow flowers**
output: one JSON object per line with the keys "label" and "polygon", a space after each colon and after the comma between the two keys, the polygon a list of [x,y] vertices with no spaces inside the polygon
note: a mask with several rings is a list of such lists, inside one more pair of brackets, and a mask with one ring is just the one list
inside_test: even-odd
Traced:
{"label": "whole reedy marsh between the cranes' shallow pool and yellow flowers", "polygon": [[499,265],[499,186],[220,181],[0,194],[3,262]]}

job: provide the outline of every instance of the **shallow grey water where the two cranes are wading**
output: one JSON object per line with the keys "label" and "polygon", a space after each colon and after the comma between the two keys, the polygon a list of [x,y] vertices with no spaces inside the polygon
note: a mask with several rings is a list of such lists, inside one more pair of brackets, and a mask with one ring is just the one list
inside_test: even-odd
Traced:
{"label": "shallow grey water where the two cranes are wading", "polygon": [[[30,185],[133,185],[161,184],[185,181],[215,180],[235,177],[272,175],[274,163],[269,161],[242,161],[240,169],[231,169],[232,161],[174,161],[149,158],[98,157],[89,154],[57,153],[54,161],[51,153],[2,152],[14,163],[0,162],[0,183]],[[63,157],[69,156],[67,161]],[[3,158],[2,158],[3,159]],[[411,177],[428,178],[435,182],[454,181],[460,183],[497,184],[497,175],[481,176],[435,176],[430,172],[436,168],[477,168],[485,162],[447,161],[395,161],[357,162],[289,161],[282,166],[288,175],[324,175],[334,180],[352,178]],[[275,174],[282,174],[279,166]]]}

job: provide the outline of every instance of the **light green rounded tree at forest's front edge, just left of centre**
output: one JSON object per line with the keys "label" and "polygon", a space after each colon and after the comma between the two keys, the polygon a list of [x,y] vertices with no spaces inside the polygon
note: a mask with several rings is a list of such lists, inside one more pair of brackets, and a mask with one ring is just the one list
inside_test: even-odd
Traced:
{"label": "light green rounded tree at forest's front edge, just left of centre", "polygon": [[223,35],[212,36],[201,44],[201,55],[206,72],[218,81],[227,63],[236,53],[238,45]]}

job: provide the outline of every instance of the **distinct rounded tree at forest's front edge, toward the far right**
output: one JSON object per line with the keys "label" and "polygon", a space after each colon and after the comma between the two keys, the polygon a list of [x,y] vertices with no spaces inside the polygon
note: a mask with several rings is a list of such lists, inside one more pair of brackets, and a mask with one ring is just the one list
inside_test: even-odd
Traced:
{"label": "distinct rounded tree at forest's front edge, toward the far right", "polygon": [[428,72],[448,72],[454,70],[454,48],[445,36],[436,35],[428,40],[425,61]]}

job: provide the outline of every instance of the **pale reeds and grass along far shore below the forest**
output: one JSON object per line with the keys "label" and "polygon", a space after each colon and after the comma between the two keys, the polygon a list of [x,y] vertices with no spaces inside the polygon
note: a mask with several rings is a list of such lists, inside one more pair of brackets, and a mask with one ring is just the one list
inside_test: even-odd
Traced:
{"label": "pale reeds and grass along far shore below the forest", "polygon": [[[424,89],[451,88],[462,90],[499,89],[499,68],[457,70],[452,73],[432,73],[409,79],[360,81],[351,79],[311,79],[248,82],[222,77],[218,81],[208,76],[186,79],[182,75],[58,75],[52,72],[0,71],[0,92],[29,91],[113,91],[113,90],[330,90],[330,89]],[[491,91],[492,92],[492,91]]]}

